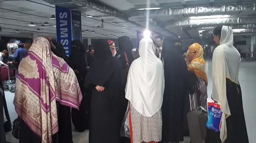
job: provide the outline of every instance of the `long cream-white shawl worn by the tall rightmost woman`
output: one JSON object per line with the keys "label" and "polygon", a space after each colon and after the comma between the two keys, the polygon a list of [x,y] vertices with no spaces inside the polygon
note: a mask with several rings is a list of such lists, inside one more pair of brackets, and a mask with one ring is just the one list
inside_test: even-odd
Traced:
{"label": "long cream-white shawl worn by the tall rightmost woman", "polygon": [[220,103],[220,110],[223,112],[220,129],[222,142],[227,138],[226,118],[231,115],[226,94],[226,78],[238,84],[240,61],[240,54],[233,46],[232,28],[222,26],[220,45],[212,56],[212,98]]}

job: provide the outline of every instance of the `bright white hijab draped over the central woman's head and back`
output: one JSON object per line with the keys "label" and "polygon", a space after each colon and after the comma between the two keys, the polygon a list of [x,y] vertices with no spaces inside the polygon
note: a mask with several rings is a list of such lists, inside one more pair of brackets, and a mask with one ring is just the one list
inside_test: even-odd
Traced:
{"label": "bright white hijab draped over the central woman's head and back", "polygon": [[145,117],[158,112],[163,102],[164,68],[155,52],[152,39],[144,37],[140,41],[140,57],[130,66],[125,89],[125,97]]}

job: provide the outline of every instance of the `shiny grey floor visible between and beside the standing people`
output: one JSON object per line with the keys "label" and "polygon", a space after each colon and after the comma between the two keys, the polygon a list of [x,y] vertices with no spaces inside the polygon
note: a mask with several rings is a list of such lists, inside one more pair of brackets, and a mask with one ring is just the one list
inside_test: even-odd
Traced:
{"label": "shiny grey floor visible between and beside the standing people", "polygon": [[[206,60],[206,72],[208,74],[208,97],[212,92],[212,63],[211,60]],[[250,143],[256,143],[256,62],[243,61],[240,66],[239,81],[242,87],[242,96],[244,103],[244,114]],[[13,106],[14,93],[6,92],[6,100],[10,118],[13,121],[17,118],[17,114]],[[89,131],[77,133],[73,131],[74,143],[88,143]],[[18,143],[11,133],[7,134],[7,140],[11,143]],[[189,138],[186,137],[183,143],[189,143]]]}

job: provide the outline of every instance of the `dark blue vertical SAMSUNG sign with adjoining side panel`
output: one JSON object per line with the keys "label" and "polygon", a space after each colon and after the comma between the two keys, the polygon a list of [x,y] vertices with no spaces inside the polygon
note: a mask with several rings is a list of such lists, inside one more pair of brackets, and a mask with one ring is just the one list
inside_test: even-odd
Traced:
{"label": "dark blue vertical SAMSUNG sign with adjoining side panel", "polygon": [[55,10],[57,41],[62,43],[66,55],[70,55],[72,40],[82,41],[81,14],[59,6]]}

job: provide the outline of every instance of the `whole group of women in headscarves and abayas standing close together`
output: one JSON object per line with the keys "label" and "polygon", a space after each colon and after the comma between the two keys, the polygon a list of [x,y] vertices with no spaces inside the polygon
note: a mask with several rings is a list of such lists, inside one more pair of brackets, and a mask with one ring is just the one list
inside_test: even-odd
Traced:
{"label": "whole group of women in headscarves and abayas standing close together", "polygon": [[[208,131],[206,143],[248,143],[238,82],[241,59],[232,46],[232,29],[217,27],[214,40],[219,46],[213,55],[212,98],[224,114],[220,133]],[[71,118],[76,131],[90,129],[90,143],[183,141],[186,113],[193,110],[186,106],[206,106],[202,47],[190,45],[185,61],[180,45],[166,37],[161,61],[150,37],[140,41],[136,60],[129,37],[119,37],[118,45],[114,57],[108,42],[99,40],[91,55],[74,40],[67,57],[61,44],[37,38],[16,79],[20,143],[72,143]],[[194,97],[191,103],[188,96]],[[123,118],[130,138],[120,137]]]}

